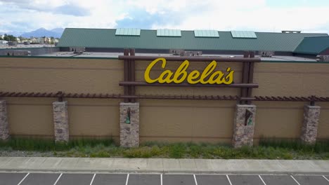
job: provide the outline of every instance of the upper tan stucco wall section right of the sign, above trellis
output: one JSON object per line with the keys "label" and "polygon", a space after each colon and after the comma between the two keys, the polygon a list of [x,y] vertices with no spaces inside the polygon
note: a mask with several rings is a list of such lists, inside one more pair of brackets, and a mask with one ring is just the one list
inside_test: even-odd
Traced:
{"label": "upper tan stucco wall section right of the sign, above trellis", "polygon": [[256,63],[253,95],[329,96],[329,63]]}

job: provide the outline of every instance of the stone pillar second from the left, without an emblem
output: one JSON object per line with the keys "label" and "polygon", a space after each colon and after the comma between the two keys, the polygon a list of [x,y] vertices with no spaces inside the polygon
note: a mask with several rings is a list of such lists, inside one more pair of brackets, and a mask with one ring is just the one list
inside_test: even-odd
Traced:
{"label": "stone pillar second from the left, without an emblem", "polygon": [[68,142],[70,134],[66,101],[53,102],[53,125],[55,142]]}

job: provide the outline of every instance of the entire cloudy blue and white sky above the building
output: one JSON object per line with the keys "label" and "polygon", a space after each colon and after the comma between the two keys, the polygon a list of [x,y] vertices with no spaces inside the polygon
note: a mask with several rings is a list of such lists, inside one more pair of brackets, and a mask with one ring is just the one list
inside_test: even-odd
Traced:
{"label": "entire cloudy blue and white sky above the building", "polygon": [[0,0],[0,32],[40,27],[329,33],[329,0]]}

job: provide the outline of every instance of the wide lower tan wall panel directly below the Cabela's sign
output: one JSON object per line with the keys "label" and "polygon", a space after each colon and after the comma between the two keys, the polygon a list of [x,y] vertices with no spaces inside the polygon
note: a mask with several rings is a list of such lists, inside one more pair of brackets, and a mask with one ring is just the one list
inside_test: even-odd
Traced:
{"label": "wide lower tan wall panel directly below the Cabela's sign", "polygon": [[141,141],[229,142],[235,102],[141,100]]}

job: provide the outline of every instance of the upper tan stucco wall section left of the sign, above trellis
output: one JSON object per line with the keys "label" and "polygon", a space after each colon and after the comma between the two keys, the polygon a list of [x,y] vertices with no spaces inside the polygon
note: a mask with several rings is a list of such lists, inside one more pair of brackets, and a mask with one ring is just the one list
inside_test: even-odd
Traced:
{"label": "upper tan stucco wall section left of the sign, above trellis", "polygon": [[2,91],[122,93],[119,60],[0,58]]}

